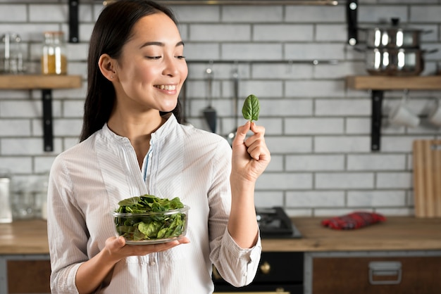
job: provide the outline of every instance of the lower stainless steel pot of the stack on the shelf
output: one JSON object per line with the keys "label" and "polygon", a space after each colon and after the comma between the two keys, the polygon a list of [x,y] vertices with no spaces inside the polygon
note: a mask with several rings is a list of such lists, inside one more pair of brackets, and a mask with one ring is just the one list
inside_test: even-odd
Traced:
{"label": "lower stainless steel pot of the stack on the shelf", "polygon": [[366,70],[371,75],[411,76],[424,70],[421,49],[366,49]]}

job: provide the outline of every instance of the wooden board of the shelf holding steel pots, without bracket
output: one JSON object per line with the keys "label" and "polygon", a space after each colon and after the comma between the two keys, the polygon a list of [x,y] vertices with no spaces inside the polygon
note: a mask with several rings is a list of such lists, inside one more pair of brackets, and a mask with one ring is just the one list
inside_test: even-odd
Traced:
{"label": "wooden board of the shelf holding steel pots, without bracket", "polygon": [[441,75],[390,77],[360,75],[346,78],[347,87],[356,90],[440,90]]}

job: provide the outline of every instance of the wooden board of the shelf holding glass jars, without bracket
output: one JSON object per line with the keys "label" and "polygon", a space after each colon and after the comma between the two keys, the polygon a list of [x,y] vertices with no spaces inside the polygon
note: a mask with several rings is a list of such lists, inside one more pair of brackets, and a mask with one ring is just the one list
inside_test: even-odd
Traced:
{"label": "wooden board of the shelf holding glass jars, without bracket", "polygon": [[81,87],[80,75],[0,75],[0,89],[70,89]]}

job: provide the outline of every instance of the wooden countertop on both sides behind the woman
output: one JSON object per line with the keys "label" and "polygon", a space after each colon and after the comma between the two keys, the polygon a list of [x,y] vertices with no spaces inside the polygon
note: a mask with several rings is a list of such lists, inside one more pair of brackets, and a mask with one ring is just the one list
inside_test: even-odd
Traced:
{"label": "wooden countertop on both sides behind the woman", "polygon": [[[299,239],[263,239],[264,251],[441,250],[441,218],[387,217],[362,229],[337,231],[321,226],[321,218],[294,217]],[[46,221],[0,224],[0,255],[48,254]]]}

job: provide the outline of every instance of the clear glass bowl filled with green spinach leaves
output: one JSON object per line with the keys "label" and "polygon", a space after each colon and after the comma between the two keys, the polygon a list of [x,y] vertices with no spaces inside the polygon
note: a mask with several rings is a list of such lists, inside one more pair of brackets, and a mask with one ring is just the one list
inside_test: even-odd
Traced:
{"label": "clear glass bowl filled with green spinach leaves", "polygon": [[[185,233],[187,214],[169,212],[185,207],[178,197],[168,200],[146,194],[121,200],[118,205],[116,231],[126,241],[175,238]],[[126,213],[130,215],[120,215]]]}

